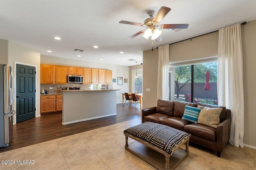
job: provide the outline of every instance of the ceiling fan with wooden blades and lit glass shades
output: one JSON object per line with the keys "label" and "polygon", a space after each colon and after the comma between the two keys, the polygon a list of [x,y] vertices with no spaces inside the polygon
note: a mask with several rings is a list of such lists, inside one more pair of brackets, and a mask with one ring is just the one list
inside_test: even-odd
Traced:
{"label": "ceiling fan with wooden blades and lit glass shades", "polygon": [[136,23],[136,22],[130,22],[130,21],[120,21],[119,23],[125,23],[130,25],[138,25],[146,27],[147,29],[144,29],[142,31],[139,31],[138,33],[128,37],[127,39],[133,39],[134,37],[140,35],[141,33],[144,33],[142,35],[146,39],[151,36],[152,40],[156,40],[156,42],[162,41],[162,37],[160,36],[162,31],[157,29],[187,29],[188,24],[161,24],[160,21],[170,12],[171,8],[162,6],[158,13],[154,10],[150,10],[147,14],[150,16],[150,18],[146,19],[143,23]]}

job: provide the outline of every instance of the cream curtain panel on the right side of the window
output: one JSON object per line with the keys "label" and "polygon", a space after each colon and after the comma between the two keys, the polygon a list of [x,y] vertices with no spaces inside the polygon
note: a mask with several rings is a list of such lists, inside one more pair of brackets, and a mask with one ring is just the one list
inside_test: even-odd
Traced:
{"label": "cream curtain panel on the right side of the window", "polygon": [[244,147],[244,88],[241,25],[219,30],[218,104],[231,109],[230,144]]}

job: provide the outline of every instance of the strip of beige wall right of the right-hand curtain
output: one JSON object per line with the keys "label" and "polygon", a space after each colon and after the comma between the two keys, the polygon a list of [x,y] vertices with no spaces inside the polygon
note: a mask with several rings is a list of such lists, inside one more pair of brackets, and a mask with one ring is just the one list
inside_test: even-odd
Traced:
{"label": "strip of beige wall right of the right-hand curtain", "polygon": [[256,20],[241,25],[244,68],[244,143],[256,149]]}

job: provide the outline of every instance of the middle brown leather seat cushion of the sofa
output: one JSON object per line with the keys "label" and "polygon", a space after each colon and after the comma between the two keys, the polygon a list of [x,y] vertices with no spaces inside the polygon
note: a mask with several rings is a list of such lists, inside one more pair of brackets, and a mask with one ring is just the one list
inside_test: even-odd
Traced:
{"label": "middle brown leather seat cushion of the sofa", "polygon": [[190,124],[191,122],[181,119],[181,117],[168,117],[161,120],[161,124],[173,127],[183,131],[185,125]]}

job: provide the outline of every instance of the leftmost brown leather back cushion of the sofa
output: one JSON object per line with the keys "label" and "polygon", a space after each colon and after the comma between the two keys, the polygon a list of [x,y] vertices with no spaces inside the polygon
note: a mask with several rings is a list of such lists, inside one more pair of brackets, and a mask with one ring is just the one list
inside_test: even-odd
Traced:
{"label": "leftmost brown leather back cushion of the sofa", "polygon": [[157,100],[156,112],[164,113],[166,115],[173,115],[174,102],[168,100]]}

